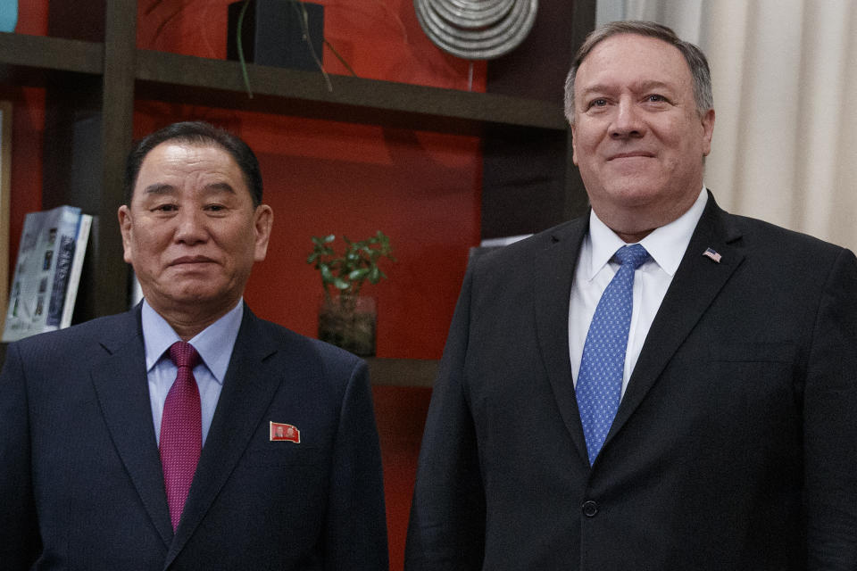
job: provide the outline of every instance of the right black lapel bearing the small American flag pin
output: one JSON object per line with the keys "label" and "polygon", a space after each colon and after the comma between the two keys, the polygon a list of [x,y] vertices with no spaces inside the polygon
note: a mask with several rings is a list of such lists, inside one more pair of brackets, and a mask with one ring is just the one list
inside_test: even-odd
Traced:
{"label": "right black lapel bearing the small American flag pin", "polygon": [[[703,216],[646,335],[604,446],[644,400],[678,347],[744,260],[744,253],[732,245],[740,233],[729,227],[728,214],[720,210],[709,194]],[[703,255],[707,248],[721,254],[720,262]]]}

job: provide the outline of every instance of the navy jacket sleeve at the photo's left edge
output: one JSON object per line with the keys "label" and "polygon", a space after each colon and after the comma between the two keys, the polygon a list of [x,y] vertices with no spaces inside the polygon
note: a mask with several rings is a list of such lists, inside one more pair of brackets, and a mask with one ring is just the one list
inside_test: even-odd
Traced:
{"label": "navy jacket sleeve at the photo's left edge", "polygon": [[0,561],[29,569],[41,550],[30,471],[29,410],[17,346],[0,373]]}

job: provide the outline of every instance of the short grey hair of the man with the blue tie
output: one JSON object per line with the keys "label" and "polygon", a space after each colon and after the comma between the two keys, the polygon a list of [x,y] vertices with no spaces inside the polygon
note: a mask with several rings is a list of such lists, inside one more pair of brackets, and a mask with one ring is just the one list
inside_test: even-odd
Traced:
{"label": "short grey hair of the man with the blue tie", "polygon": [[676,36],[672,29],[652,21],[612,21],[591,32],[583,45],[578,49],[571,64],[571,70],[565,79],[565,116],[574,124],[574,80],[578,75],[580,64],[587,55],[595,49],[595,46],[608,37],[620,34],[635,34],[637,36],[654,37],[660,39],[670,46],[676,46],[684,56],[690,75],[694,79],[694,99],[696,112],[700,115],[714,107],[714,95],[711,93],[711,70],[708,68],[708,60],[703,51],[690,42],[686,42]]}

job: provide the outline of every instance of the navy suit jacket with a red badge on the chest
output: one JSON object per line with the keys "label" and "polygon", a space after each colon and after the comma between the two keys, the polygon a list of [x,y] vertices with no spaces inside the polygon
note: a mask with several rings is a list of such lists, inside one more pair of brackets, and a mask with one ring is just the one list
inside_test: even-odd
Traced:
{"label": "navy suit jacket with a red badge on the chest", "polygon": [[[0,568],[387,569],[365,363],[245,307],[173,534],[139,307],[9,346]],[[301,442],[270,442],[270,422]]]}

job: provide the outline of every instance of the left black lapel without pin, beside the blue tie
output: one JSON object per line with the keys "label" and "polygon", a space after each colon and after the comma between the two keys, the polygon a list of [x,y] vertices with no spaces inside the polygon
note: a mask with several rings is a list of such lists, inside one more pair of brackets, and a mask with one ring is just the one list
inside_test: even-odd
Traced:
{"label": "left black lapel without pin, beside the blue tie", "polygon": [[562,420],[582,459],[587,443],[580,425],[569,356],[569,300],[578,253],[588,228],[588,216],[559,228],[534,263],[536,330],[538,347],[545,362],[553,395]]}

